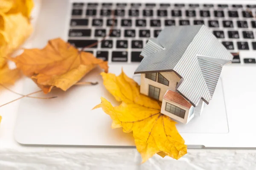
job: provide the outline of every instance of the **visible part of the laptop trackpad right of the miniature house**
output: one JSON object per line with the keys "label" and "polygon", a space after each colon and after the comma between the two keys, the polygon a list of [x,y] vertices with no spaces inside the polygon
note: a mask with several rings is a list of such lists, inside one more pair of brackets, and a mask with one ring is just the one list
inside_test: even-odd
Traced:
{"label": "visible part of the laptop trackpad right of the miniature house", "polygon": [[227,114],[221,78],[209,105],[205,105],[201,116],[195,116],[187,125],[179,123],[180,133],[228,133]]}

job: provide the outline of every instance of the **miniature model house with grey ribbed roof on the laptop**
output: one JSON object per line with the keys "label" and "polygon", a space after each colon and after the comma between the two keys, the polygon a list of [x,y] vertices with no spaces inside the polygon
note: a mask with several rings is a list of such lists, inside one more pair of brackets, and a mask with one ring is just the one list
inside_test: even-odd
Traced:
{"label": "miniature model house with grey ribbed roof on the laptop", "polygon": [[204,25],[166,27],[140,56],[140,93],[162,101],[161,113],[182,123],[209,104],[223,65],[233,59]]}

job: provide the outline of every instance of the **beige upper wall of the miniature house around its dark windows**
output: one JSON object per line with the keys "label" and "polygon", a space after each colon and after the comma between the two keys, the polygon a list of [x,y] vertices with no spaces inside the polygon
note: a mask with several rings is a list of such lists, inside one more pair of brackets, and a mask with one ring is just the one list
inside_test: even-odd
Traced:
{"label": "beige upper wall of the miniature house around its dark windows", "polygon": [[[163,85],[159,82],[153,81],[151,79],[147,79],[145,77],[145,74],[141,74],[140,76],[140,93],[141,94],[145,94],[146,96],[148,96],[148,88],[149,85],[152,85],[154,87],[160,88],[160,94],[159,94],[159,100],[163,101],[163,96],[166,93],[166,91],[168,89],[175,91],[177,82],[180,82],[180,77],[177,76],[177,74],[175,74],[175,72],[171,71],[171,72],[162,72],[160,73],[163,75],[164,78],[166,78],[169,81],[169,86],[167,85]],[[157,74],[157,79],[158,79],[158,74]]]}

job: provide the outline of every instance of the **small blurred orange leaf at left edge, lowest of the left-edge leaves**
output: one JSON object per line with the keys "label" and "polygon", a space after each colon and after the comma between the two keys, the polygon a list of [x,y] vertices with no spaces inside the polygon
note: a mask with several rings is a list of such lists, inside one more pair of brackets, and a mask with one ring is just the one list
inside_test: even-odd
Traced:
{"label": "small blurred orange leaf at left edge, lowest of the left-edge leaves", "polygon": [[1,85],[12,85],[18,78],[20,78],[20,71],[18,69],[10,70],[7,64],[0,68]]}

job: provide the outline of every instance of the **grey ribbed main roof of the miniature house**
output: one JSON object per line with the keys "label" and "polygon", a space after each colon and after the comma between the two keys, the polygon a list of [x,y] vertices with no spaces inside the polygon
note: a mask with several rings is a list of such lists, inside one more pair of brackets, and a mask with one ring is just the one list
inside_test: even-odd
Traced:
{"label": "grey ribbed main roof of the miniature house", "polygon": [[179,92],[193,106],[209,104],[223,65],[233,55],[204,26],[171,26],[149,39],[134,74],[175,71],[182,79]]}

